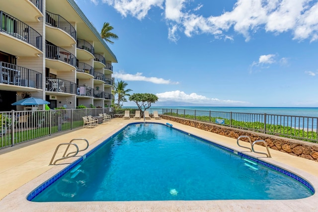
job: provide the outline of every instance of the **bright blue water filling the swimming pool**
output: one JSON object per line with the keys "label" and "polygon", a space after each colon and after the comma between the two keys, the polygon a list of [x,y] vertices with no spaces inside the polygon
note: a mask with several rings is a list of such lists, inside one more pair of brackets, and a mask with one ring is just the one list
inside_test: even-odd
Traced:
{"label": "bright blue water filling the swimming pool", "polygon": [[299,182],[303,179],[257,161],[161,124],[133,124],[28,199],[284,200],[313,195]]}

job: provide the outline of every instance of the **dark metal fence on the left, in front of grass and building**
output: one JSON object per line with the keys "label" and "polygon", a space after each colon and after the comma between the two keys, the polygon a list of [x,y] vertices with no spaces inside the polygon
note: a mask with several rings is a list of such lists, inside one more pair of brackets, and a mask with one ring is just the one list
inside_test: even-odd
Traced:
{"label": "dark metal fence on the left, in front of grass and building", "polygon": [[109,113],[108,108],[0,112],[0,148],[83,126],[83,116]]}

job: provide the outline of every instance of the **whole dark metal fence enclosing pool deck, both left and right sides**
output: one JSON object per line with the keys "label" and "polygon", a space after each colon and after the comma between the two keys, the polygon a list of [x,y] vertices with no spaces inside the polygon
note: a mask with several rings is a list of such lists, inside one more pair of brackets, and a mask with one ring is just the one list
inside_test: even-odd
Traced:
{"label": "whole dark metal fence enclosing pool deck, both left and right sides", "polygon": [[[82,127],[83,116],[98,116],[99,113],[123,115],[125,110],[134,114],[138,109],[125,108],[112,112],[108,108],[0,112],[0,148]],[[148,111],[150,114],[158,111],[159,115],[318,142],[318,117],[158,108],[149,108]]]}

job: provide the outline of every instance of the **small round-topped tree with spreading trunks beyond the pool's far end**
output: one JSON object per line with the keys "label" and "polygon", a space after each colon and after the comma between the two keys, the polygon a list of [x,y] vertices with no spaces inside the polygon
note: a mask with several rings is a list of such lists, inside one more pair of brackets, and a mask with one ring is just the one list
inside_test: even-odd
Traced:
{"label": "small round-topped tree with spreading trunks beyond the pool's far end", "polygon": [[152,93],[134,93],[129,96],[129,101],[136,102],[139,110],[142,111],[142,115],[144,115],[144,111],[151,107],[151,103],[158,101],[158,96]]}

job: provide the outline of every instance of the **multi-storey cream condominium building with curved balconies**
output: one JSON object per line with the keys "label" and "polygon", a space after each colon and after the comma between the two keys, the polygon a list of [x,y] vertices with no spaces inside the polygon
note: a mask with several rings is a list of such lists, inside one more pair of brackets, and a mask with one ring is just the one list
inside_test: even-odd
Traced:
{"label": "multi-storey cream condominium building with curved balconies", "polygon": [[28,109],[11,103],[30,96],[50,108],[108,107],[112,63],[74,0],[0,0],[0,111]]}

